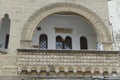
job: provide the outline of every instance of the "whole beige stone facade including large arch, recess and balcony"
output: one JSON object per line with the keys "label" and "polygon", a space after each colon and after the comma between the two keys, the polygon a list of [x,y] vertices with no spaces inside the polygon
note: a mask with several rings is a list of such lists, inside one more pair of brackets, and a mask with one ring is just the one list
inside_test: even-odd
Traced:
{"label": "whole beige stone facade including large arch, recess and balcony", "polygon": [[116,77],[107,0],[0,0],[0,75]]}

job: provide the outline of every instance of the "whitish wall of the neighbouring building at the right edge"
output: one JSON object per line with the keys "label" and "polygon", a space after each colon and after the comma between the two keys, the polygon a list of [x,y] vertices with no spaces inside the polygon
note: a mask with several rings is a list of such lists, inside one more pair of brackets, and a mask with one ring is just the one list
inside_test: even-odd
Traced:
{"label": "whitish wall of the neighbouring building at the right edge", "polygon": [[[114,49],[120,50],[120,1],[119,0],[111,0],[108,2],[109,6],[109,18],[110,18],[110,26],[113,31],[113,39],[114,39]],[[113,46],[114,46],[113,45]]]}

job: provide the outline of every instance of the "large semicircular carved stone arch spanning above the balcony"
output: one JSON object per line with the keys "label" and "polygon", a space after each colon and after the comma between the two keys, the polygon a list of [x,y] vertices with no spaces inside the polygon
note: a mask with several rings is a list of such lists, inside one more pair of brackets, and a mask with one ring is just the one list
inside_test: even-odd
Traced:
{"label": "large semicircular carved stone arch spanning above the balcony", "polygon": [[80,4],[66,2],[49,4],[38,9],[34,14],[31,15],[31,17],[25,23],[21,34],[21,48],[31,47],[33,32],[41,20],[47,16],[60,12],[71,12],[84,17],[85,20],[87,20],[87,22],[90,23],[93,29],[96,31],[99,42],[103,44],[104,49],[111,49],[111,35],[102,19],[92,10]]}

